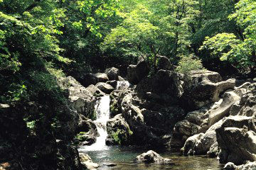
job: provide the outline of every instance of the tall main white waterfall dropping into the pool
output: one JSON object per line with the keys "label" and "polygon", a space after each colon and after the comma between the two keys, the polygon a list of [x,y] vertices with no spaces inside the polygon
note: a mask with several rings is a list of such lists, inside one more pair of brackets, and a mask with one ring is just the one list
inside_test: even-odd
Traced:
{"label": "tall main white waterfall dropping into the pool", "polygon": [[107,120],[110,119],[110,96],[103,96],[96,102],[95,111],[97,119],[94,121],[99,136],[96,142],[85,147],[85,151],[95,151],[107,149],[105,141],[107,139]]}

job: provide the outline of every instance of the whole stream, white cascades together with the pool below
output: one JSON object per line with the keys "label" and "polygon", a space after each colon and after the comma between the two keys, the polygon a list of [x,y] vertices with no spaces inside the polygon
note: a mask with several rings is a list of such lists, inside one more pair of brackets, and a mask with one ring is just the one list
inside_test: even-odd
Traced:
{"label": "whole stream, white cascades together with the pool below", "polygon": [[[126,82],[118,84],[118,86],[129,86]],[[164,170],[164,169],[181,169],[181,170],[220,170],[223,165],[217,159],[207,158],[203,156],[188,156],[184,157],[178,152],[170,150],[161,150],[149,147],[136,146],[107,146],[105,140],[107,138],[107,120],[110,119],[110,96],[101,97],[96,105],[97,120],[95,124],[99,137],[95,144],[90,146],[82,146],[78,149],[79,152],[89,154],[93,162],[100,165],[99,170],[120,169],[120,170]],[[174,161],[175,165],[159,165],[159,164],[137,164],[134,159],[144,152],[154,150],[161,157],[169,158]],[[116,166],[107,166],[116,164]]]}

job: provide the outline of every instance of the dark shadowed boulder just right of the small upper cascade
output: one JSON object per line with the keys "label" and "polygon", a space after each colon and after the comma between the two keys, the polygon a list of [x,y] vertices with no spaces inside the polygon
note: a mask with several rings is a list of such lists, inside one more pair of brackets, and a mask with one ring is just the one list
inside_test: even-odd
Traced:
{"label": "dark shadowed boulder just right of the small upper cascade", "polygon": [[127,68],[127,79],[132,84],[137,84],[149,74],[149,66],[142,60],[137,65],[129,65]]}

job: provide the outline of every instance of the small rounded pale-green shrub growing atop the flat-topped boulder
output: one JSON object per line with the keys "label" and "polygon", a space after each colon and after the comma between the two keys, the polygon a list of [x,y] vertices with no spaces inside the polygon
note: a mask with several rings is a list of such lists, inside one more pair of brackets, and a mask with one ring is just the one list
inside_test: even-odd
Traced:
{"label": "small rounded pale-green shrub growing atop the flat-topped boulder", "polygon": [[188,74],[191,70],[203,69],[203,64],[195,55],[182,56],[176,72]]}

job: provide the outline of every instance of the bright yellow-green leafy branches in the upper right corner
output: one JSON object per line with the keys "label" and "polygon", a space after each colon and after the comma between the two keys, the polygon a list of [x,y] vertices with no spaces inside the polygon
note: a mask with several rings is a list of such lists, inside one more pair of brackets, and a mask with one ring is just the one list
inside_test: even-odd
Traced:
{"label": "bright yellow-green leafy branches in the upper right corner", "polygon": [[228,18],[236,21],[243,33],[220,33],[206,38],[201,50],[210,50],[211,55],[228,61],[241,71],[255,69],[256,45],[256,2],[241,0],[235,5],[235,13]]}

